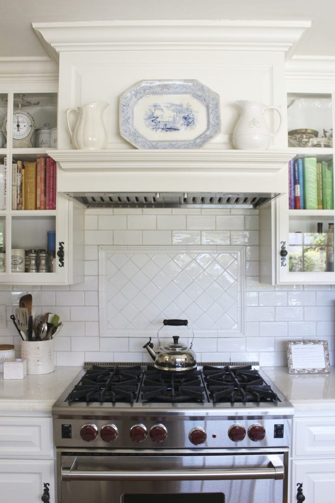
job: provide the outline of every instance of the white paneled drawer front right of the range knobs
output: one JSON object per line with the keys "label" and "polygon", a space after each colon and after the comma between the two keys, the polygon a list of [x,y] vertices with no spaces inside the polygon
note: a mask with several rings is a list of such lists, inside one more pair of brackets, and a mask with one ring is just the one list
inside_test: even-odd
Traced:
{"label": "white paneled drawer front right of the range knobs", "polygon": [[293,457],[335,455],[335,418],[295,418],[293,421]]}

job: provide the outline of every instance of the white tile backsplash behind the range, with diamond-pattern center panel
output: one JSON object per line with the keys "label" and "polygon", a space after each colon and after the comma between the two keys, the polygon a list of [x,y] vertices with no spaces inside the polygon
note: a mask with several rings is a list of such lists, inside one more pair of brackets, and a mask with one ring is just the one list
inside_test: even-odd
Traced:
{"label": "white tile backsplash behind the range, with diamond-pattern center panel", "polygon": [[[143,246],[157,252],[159,246],[173,249],[177,245],[187,253],[180,253],[172,262],[168,254],[152,253],[149,257],[146,251],[140,253]],[[107,287],[99,285],[99,246],[138,248],[136,253],[122,253],[115,257],[115,264],[108,264],[113,281]],[[190,257],[192,246],[238,246],[245,254],[242,271],[234,261],[225,262],[227,255],[223,263],[212,264],[210,254],[202,254],[197,262]],[[0,328],[0,342],[14,343],[20,356],[21,340],[10,315],[28,290],[33,294],[36,314],[56,312],[64,323],[55,339],[56,364],[78,366],[78,371],[84,361],[150,362],[143,345],[149,334],[153,339],[157,336],[162,313],[166,318],[182,313],[190,326],[196,325],[193,349],[198,361],[256,360],[262,366],[286,366],[286,341],[325,339],[334,364],[335,285],[261,284],[258,268],[258,210],[87,209],[84,282],[1,286],[0,304],[7,306],[7,327]],[[241,273],[244,287],[239,290],[236,279]],[[113,300],[108,323],[115,325],[117,336],[106,333],[101,316],[99,319],[104,296]],[[245,304],[241,301],[244,296]],[[189,334],[183,341],[190,342]]]}

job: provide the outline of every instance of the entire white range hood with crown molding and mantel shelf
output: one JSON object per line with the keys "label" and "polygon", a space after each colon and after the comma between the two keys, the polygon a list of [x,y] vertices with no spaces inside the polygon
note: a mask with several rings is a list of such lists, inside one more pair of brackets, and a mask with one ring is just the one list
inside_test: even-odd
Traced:
{"label": "entire white range hood with crown molding and mantel shelf", "polygon": [[[58,191],[86,197],[87,205],[92,197],[111,203],[108,198],[118,194],[120,201],[157,193],[166,200],[174,193],[178,201],[186,193],[200,201],[212,194],[221,204],[234,194],[239,201],[264,202],[285,192],[292,154],[284,62],[309,26],[307,21],[232,20],[34,24],[49,54],[59,59],[58,150],[48,151],[59,165]],[[201,149],[132,147],[120,135],[119,97],[146,79],[198,79],[212,89],[220,98],[220,134]],[[282,108],[284,124],[269,150],[232,148],[239,113],[233,104],[241,99]],[[73,150],[66,110],[98,100],[109,104],[107,148]]]}

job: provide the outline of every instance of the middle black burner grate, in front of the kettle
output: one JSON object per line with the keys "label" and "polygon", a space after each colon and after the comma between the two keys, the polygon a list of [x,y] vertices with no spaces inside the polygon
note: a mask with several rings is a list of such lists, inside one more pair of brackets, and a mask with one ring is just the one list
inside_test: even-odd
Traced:
{"label": "middle black burner grate, in front of the kettle", "polygon": [[204,387],[200,371],[192,370],[178,374],[147,368],[144,371],[141,399],[145,402],[203,402]]}

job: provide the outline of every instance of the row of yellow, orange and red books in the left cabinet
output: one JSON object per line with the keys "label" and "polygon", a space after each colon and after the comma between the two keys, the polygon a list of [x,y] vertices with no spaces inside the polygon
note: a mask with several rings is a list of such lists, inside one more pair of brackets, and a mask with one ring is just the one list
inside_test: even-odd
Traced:
{"label": "row of yellow, orange and red books in the left cabinet", "polygon": [[55,210],[56,173],[50,157],[13,162],[12,210]]}

